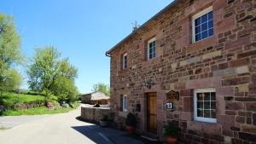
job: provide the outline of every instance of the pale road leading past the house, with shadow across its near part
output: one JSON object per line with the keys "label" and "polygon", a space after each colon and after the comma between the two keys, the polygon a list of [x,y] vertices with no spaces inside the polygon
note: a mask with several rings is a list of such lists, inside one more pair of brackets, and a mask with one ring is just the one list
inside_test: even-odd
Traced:
{"label": "pale road leading past the house, with shadow across its near part", "polygon": [[[80,108],[72,112],[2,117],[0,123],[13,127],[0,131],[1,144],[112,144],[95,124],[77,120]],[[4,119],[4,120],[3,120]],[[4,123],[3,123],[4,122]]]}

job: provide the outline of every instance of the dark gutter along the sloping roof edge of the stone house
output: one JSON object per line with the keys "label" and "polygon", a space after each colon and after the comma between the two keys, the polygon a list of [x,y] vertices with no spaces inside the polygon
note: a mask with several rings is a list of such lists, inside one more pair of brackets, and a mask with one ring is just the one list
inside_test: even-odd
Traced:
{"label": "dark gutter along the sloping roof edge of the stone house", "polygon": [[152,18],[150,18],[149,20],[147,20],[145,23],[143,23],[142,26],[139,26],[137,28],[137,30],[131,32],[131,34],[129,34],[127,37],[125,37],[123,40],[121,40],[119,43],[117,43],[115,46],[113,46],[112,49],[109,49],[107,52],[106,52],[106,56],[109,56],[110,57],[110,54],[113,49],[116,49],[121,43],[124,43],[126,39],[130,38],[131,36],[133,36],[136,32],[138,32],[140,29],[142,29],[144,26],[146,26],[151,20],[154,20],[157,16],[159,16],[160,14],[162,14],[163,12],[166,11],[166,9],[170,9],[171,7],[175,6],[175,4],[177,4],[177,2],[180,1],[180,0],[174,0],[172,3],[170,3],[169,5],[166,6],[166,8],[160,10],[160,12],[158,12],[157,14],[154,14],[154,16]]}

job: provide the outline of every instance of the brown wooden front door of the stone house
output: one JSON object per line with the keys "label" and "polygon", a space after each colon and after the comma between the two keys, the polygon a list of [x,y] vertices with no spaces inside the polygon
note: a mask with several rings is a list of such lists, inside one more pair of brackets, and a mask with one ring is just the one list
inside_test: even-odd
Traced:
{"label": "brown wooden front door of the stone house", "polygon": [[148,131],[156,133],[156,116],[157,116],[157,104],[156,104],[156,93],[147,94],[147,125]]}

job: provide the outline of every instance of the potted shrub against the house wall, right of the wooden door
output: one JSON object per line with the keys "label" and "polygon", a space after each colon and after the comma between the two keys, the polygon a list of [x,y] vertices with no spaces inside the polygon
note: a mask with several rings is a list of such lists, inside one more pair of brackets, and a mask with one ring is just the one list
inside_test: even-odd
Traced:
{"label": "potted shrub against the house wall, right of the wooden door", "polygon": [[173,123],[168,123],[165,129],[166,143],[176,144],[177,143],[177,126]]}

